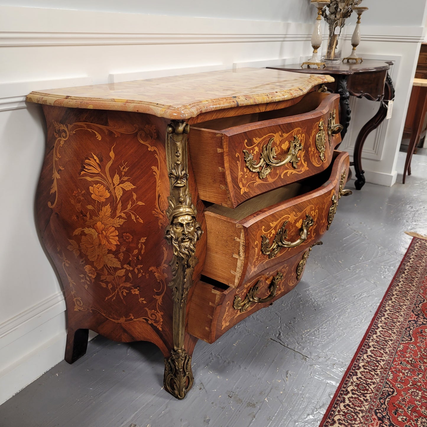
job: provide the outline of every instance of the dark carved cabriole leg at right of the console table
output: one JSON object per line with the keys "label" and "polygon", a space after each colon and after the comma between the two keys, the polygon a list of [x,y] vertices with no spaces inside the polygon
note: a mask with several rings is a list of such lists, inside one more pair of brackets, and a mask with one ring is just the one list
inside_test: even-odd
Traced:
{"label": "dark carved cabriole leg at right of the console table", "polygon": [[359,135],[357,135],[356,144],[354,146],[353,162],[350,163],[354,165],[354,171],[356,172],[356,181],[354,186],[357,190],[360,190],[365,184],[365,176],[363,175],[364,171],[362,170],[362,150],[363,144],[365,143],[368,135],[383,122],[387,115],[388,105],[384,101],[392,100],[395,97],[395,89],[393,87],[392,79],[387,73],[386,84],[384,87],[384,97],[381,102],[380,109],[377,114],[371,118],[360,130]]}

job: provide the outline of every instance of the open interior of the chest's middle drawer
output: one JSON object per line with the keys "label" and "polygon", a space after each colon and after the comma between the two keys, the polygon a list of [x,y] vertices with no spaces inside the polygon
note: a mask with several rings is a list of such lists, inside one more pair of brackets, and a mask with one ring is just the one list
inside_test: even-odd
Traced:
{"label": "open interior of the chest's middle drawer", "polygon": [[[333,152],[333,160],[339,155],[339,151]],[[226,216],[227,218],[240,221],[246,216],[252,215],[262,209],[269,208],[277,203],[284,202],[285,200],[292,199],[296,196],[301,196],[305,193],[315,190],[325,184],[330,178],[332,171],[333,161],[329,167],[318,175],[314,175],[305,179],[303,182],[295,182],[284,187],[276,188],[268,193],[261,194],[252,199],[243,202],[237,208],[226,208],[225,206],[206,203],[205,211],[216,213],[218,215]]]}

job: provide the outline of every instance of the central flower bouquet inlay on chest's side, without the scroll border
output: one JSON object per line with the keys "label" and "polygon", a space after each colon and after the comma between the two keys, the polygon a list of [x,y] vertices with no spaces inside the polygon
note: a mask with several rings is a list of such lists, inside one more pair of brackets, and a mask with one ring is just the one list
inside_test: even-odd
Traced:
{"label": "central flower bouquet inlay on chest's side, without the scroll border", "polygon": [[[140,262],[146,237],[120,232],[120,227],[129,218],[134,222],[143,222],[137,207],[144,203],[137,200],[133,191],[135,185],[126,176],[129,174],[126,162],[122,162],[114,172],[110,170],[114,158],[113,146],[105,167],[101,166],[94,153],[84,160],[79,178],[89,181],[88,188],[76,189],[71,198],[71,203],[76,207],[73,219],[76,223],[84,222],[84,226],[74,230],[73,235],[80,237],[69,239],[67,249],[76,257],[80,252],[83,254],[86,275],[80,276],[86,287],[97,279],[97,284],[106,289],[106,300],[119,297],[124,302],[124,297],[131,293],[145,304],[133,279],[134,275],[137,278],[146,275]],[[132,241],[135,241],[135,245],[129,249]]]}

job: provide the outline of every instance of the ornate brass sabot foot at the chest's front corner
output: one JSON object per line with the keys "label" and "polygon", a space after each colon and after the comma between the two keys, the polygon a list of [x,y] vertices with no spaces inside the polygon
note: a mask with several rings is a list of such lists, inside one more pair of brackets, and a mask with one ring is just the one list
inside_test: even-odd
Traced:
{"label": "ornate brass sabot foot at the chest's front corner", "polygon": [[184,349],[172,350],[164,360],[164,389],[177,399],[184,399],[193,386],[191,356]]}

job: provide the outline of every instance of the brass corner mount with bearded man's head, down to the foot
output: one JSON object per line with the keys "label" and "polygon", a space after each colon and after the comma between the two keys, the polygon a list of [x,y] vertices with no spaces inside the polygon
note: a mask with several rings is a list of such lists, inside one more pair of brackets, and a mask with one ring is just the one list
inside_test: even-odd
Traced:
{"label": "brass corner mount with bearded man's head, down to the foot", "polygon": [[173,298],[173,349],[165,359],[164,388],[177,399],[184,399],[193,386],[191,353],[184,348],[187,295],[193,285],[193,271],[198,260],[196,242],[202,228],[196,221],[197,210],[188,188],[187,134],[190,126],[172,120],[167,126],[166,160],[170,179],[170,196],[166,239],[173,247],[173,279],[169,283]]}

